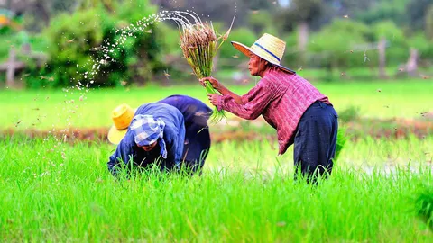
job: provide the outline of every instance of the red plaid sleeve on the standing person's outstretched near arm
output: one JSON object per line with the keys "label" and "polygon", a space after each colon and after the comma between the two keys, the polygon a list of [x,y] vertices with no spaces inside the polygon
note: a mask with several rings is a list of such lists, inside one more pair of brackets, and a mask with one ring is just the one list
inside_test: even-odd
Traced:
{"label": "red plaid sleeve on the standing person's outstretched near arm", "polygon": [[274,94],[272,89],[268,88],[265,82],[259,82],[247,94],[242,96],[244,104],[238,104],[230,95],[219,96],[218,110],[232,112],[235,115],[247,119],[254,120],[259,117],[264,108],[272,101]]}

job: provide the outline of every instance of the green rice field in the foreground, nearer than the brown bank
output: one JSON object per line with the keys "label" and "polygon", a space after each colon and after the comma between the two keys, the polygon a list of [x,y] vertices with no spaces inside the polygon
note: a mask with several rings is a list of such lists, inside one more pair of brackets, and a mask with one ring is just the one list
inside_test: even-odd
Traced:
{"label": "green rice field in the foreground, nearer than the brown bank", "polygon": [[370,141],[349,144],[330,180],[317,188],[294,184],[290,156],[279,159],[280,167],[266,144],[215,145],[201,177],[152,174],[124,182],[106,170],[114,147],[105,143],[72,147],[53,139],[13,138],[0,141],[0,147],[2,241],[428,242],[433,237],[415,208],[416,192],[432,183],[426,160],[416,173],[404,166],[392,175],[350,169],[350,157],[377,147]]}

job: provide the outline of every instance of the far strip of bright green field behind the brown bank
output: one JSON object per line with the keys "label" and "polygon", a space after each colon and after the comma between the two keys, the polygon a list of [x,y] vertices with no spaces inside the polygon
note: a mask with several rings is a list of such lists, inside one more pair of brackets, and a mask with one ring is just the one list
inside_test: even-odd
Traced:
{"label": "far strip of bright green field behind the brown bank", "polygon": [[[252,85],[229,87],[237,94],[245,94]],[[428,81],[338,82],[315,85],[329,96],[337,112],[356,106],[364,117],[421,118],[420,113],[431,111],[433,103],[433,83]],[[119,103],[138,107],[171,94],[187,94],[211,106],[198,82],[195,85],[150,85],[143,88],[132,87],[129,90],[122,88],[88,92],[0,90],[0,104],[3,107],[0,129],[14,128],[18,121],[21,121],[18,128],[108,127],[112,122],[109,114]]]}

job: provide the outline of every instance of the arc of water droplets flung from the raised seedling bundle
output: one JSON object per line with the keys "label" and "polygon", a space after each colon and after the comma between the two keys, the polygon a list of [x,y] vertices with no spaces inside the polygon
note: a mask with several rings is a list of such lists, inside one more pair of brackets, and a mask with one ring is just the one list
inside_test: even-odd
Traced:
{"label": "arc of water droplets flung from the raised seedling bundle", "polygon": [[[203,24],[198,14],[189,10],[162,11],[158,14],[144,17],[135,24],[129,24],[124,28],[115,28],[115,36],[117,36],[115,40],[105,39],[100,46],[89,49],[93,53],[97,52],[102,54],[99,56],[102,58],[91,58],[88,63],[82,66],[77,64],[77,73],[79,73],[80,68],[84,68],[88,71],[82,73],[83,78],[81,80],[75,80],[75,78],[72,80],[78,81],[74,82],[77,83],[77,85],[63,89],[65,95],[63,101],[59,103],[59,106],[57,107],[57,109],[60,109],[60,111],[57,112],[57,118],[47,119],[45,114],[45,121],[53,121],[48,134],[51,135],[51,139],[54,139],[56,142],[54,143],[55,145],[47,151],[41,151],[41,159],[47,161],[47,163],[52,164],[53,166],[55,166],[54,162],[58,163],[60,166],[63,165],[64,161],[68,159],[68,155],[65,152],[65,148],[61,145],[68,143],[69,139],[75,139],[72,130],[72,122],[75,119],[83,119],[79,110],[82,106],[87,105],[87,95],[91,86],[95,83],[95,77],[101,67],[116,62],[119,58],[117,56],[119,55],[119,52],[116,52],[115,50],[120,50],[128,38],[137,38],[137,35],[139,34],[152,33],[148,28],[152,26],[153,23],[160,23],[162,21],[173,21],[177,24],[180,31],[188,30],[194,24]],[[46,100],[48,100],[48,97],[45,101]],[[21,122],[19,119],[16,120]],[[40,120],[41,119],[38,117],[39,122],[41,122]],[[50,138],[48,137],[43,139],[44,142],[49,140]],[[44,156],[48,153],[60,155],[60,161],[51,161],[49,157]]]}

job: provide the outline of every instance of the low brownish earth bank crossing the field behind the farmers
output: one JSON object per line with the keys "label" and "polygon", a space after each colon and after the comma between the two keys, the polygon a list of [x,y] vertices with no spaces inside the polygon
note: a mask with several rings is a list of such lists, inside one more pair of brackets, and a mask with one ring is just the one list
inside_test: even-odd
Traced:
{"label": "low brownish earth bank crossing the field behind the farmers", "polygon": [[[361,119],[346,123],[340,122],[340,127],[345,127],[346,135],[352,140],[362,139],[366,136],[375,139],[405,139],[416,136],[424,139],[433,134],[433,120],[404,120],[404,119]],[[75,141],[99,141],[107,142],[108,127],[99,128],[69,128],[53,130],[20,129],[13,128],[0,130],[0,136],[23,136],[28,138],[46,138],[55,136],[68,142]],[[231,119],[211,126],[211,137],[214,142],[224,140],[262,140],[276,139],[276,133],[263,119],[256,121],[244,121]]]}

